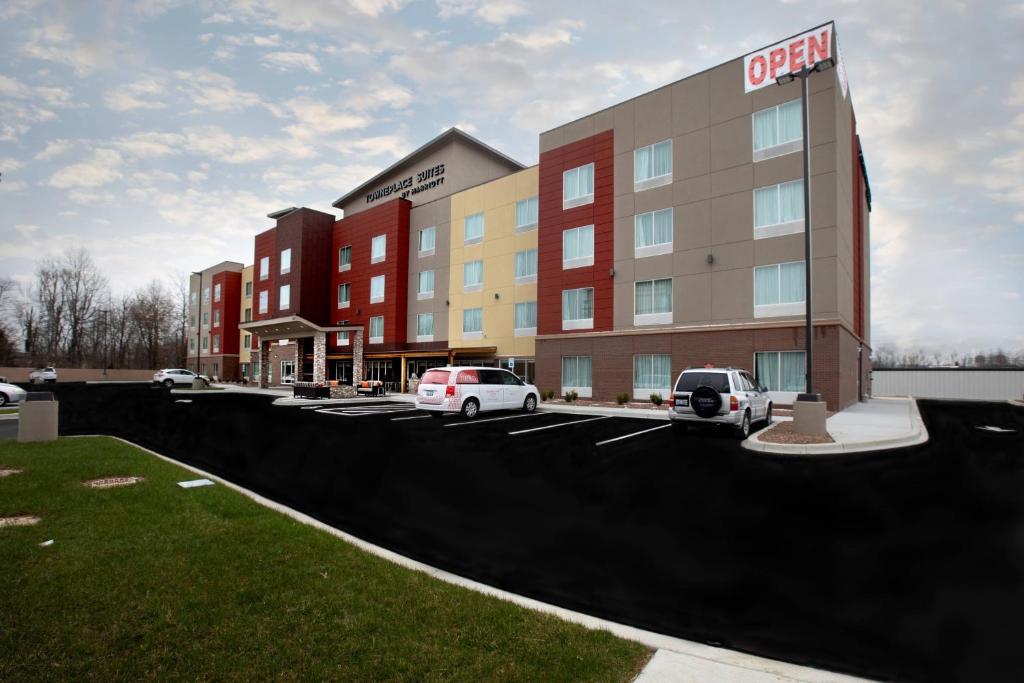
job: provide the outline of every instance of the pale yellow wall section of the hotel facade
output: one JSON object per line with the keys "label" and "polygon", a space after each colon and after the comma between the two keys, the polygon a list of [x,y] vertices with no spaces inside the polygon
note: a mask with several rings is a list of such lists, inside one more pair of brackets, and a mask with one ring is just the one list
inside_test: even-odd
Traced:
{"label": "pale yellow wall section of the hotel facade", "polygon": [[[532,358],[535,335],[516,336],[515,304],[537,301],[537,279],[516,284],[516,253],[537,249],[537,226],[517,230],[516,202],[538,195],[538,167],[452,196],[451,272],[449,278],[449,345],[453,348],[495,346],[499,357]],[[466,245],[465,219],[483,213],[483,240]],[[483,286],[466,292],[464,264],[483,261]],[[483,309],[483,335],[465,339],[466,308]]]}

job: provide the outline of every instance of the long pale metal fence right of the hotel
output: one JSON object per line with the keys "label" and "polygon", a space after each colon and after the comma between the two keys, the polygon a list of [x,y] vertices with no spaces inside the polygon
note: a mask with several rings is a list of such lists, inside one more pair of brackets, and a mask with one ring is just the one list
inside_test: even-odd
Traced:
{"label": "long pale metal fence right of the hotel", "polygon": [[876,369],[871,372],[871,393],[876,396],[1020,400],[1024,398],[1024,369]]}

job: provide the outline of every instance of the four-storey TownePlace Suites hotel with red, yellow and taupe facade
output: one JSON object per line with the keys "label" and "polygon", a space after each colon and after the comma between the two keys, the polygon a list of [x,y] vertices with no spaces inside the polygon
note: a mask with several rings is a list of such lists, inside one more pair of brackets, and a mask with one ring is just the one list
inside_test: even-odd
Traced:
{"label": "four-storey TownePlace Suites hotel with red, yellow and taupe facade", "polygon": [[[868,392],[870,355],[870,191],[838,66],[809,81],[814,375],[830,410]],[[452,129],[335,202],[340,219],[270,214],[242,323],[262,350],[245,368],[400,391],[438,365],[500,364],[542,389],[646,400],[711,364],[792,402],[800,83],[748,92],[746,76],[738,57],[544,132],[530,168]]]}

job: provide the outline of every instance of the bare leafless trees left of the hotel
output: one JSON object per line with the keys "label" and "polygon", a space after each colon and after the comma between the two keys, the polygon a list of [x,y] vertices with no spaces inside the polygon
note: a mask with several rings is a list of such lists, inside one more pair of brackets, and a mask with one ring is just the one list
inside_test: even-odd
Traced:
{"label": "bare leafless trees left of the hotel", "polygon": [[29,285],[0,278],[0,366],[178,367],[187,319],[185,275],[117,295],[87,250],[70,249]]}

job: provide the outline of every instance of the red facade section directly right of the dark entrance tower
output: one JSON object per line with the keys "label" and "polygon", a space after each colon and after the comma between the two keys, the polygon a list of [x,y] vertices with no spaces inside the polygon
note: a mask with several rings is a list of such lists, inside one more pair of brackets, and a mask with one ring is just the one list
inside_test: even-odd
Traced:
{"label": "red facade section directly right of the dark entrance tower", "polygon": [[[395,199],[386,204],[347,216],[334,224],[331,242],[331,291],[329,317],[331,323],[348,321],[365,327],[368,353],[406,348],[407,297],[409,296],[409,200]],[[371,263],[371,245],[377,236],[387,236],[384,261]],[[338,271],[338,251],[352,248],[352,267]],[[370,303],[370,280],[384,275],[384,301]],[[338,308],[338,286],[351,286],[348,308]],[[384,343],[370,344],[370,318],[384,316]],[[335,339],[328,340],[334,352],[351,351],[351,346],[338,347]]]}

